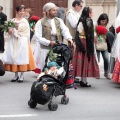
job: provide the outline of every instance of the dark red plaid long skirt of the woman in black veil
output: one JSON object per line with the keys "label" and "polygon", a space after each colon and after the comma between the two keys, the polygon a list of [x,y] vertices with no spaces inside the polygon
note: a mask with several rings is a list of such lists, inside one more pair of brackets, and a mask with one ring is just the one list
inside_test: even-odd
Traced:
{"label": "dark red plaid long skirt of the woman in black veil", "polygon": [[[81,39],[86,49],[86,39]],[[73,56],[74,76],[76,77],[99,77],[99,66],[97,64],[95,55],[90,57],[88,61],[87,53],[75,50]]]}

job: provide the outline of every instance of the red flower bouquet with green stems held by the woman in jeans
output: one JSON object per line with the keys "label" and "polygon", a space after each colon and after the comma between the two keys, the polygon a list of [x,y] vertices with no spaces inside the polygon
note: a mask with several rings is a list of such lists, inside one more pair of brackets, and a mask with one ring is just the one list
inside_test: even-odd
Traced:
{"label": "red flower bouquet with green stems held by the woman in jeans", "polygon": [[107,29],[106,29],[105,26],[98,25],[98,26],[96,27],[96,33],[97,33],[97,36],[98,36],[98,40],[99,40],[100,42],[102,42],[101,36],[106,35]]}

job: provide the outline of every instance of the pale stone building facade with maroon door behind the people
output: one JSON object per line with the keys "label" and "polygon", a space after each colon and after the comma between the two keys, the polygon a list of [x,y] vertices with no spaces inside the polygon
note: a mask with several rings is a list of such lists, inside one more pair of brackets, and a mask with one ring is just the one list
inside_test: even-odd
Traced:
{"label": "pale stone building facade with maroon door behind the people", "polygon": [[[8,19],[11,19],[15,15],[15,5],[17,4],[25,4],[26,7],[31,7],[34,14],[42,17],[42,6],[46,2],[54,2],[59,3],[60,6],[66,7],[70,9],[72,7],[72,2],[74,0],[0,0],[0,5],[4,7],[3,12],[7,14]],[[93,8],[94,12],[94,21],[97,20],[98,16],[101,13],[107,13],[110,19],[109,25],[111,25],[117,14],[116,10],[116,0],[83,0],[84,5],[90,6]]]}

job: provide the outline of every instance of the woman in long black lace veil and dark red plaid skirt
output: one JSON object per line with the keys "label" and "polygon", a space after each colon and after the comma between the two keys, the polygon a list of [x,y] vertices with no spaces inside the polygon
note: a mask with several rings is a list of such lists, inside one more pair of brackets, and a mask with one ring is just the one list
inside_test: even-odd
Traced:
{"label": "woman in long black lace veil and dark red plaid skirt", "polygon": [[92,9],[84,7],[75,37],[76,50],[73,57],[74,75],[81,77],[81,87],[91,87],[87,77],[99,77],[99,67],[94,55],[94,26]]}

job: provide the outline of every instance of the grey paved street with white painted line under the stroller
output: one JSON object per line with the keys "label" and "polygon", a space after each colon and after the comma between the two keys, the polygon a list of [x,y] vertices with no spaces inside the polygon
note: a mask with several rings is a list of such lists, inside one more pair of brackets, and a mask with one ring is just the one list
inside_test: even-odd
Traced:
{"label": "grey paved street with white painted line under the stroller", "polygon": [[60,104],[62,96],[54,98],[57,111],[39,104],[35,109],[29,108],[30,88],[37,74],[26,72],[23,83],[12,83],[14,74],[6,72],[0,77],[0,120],[120,120],[120,85],[103,77],[103,63],[100,68],[101,79],[88,79],[91,88],[77,84],[78,89],[67,90],[68,105]]}

